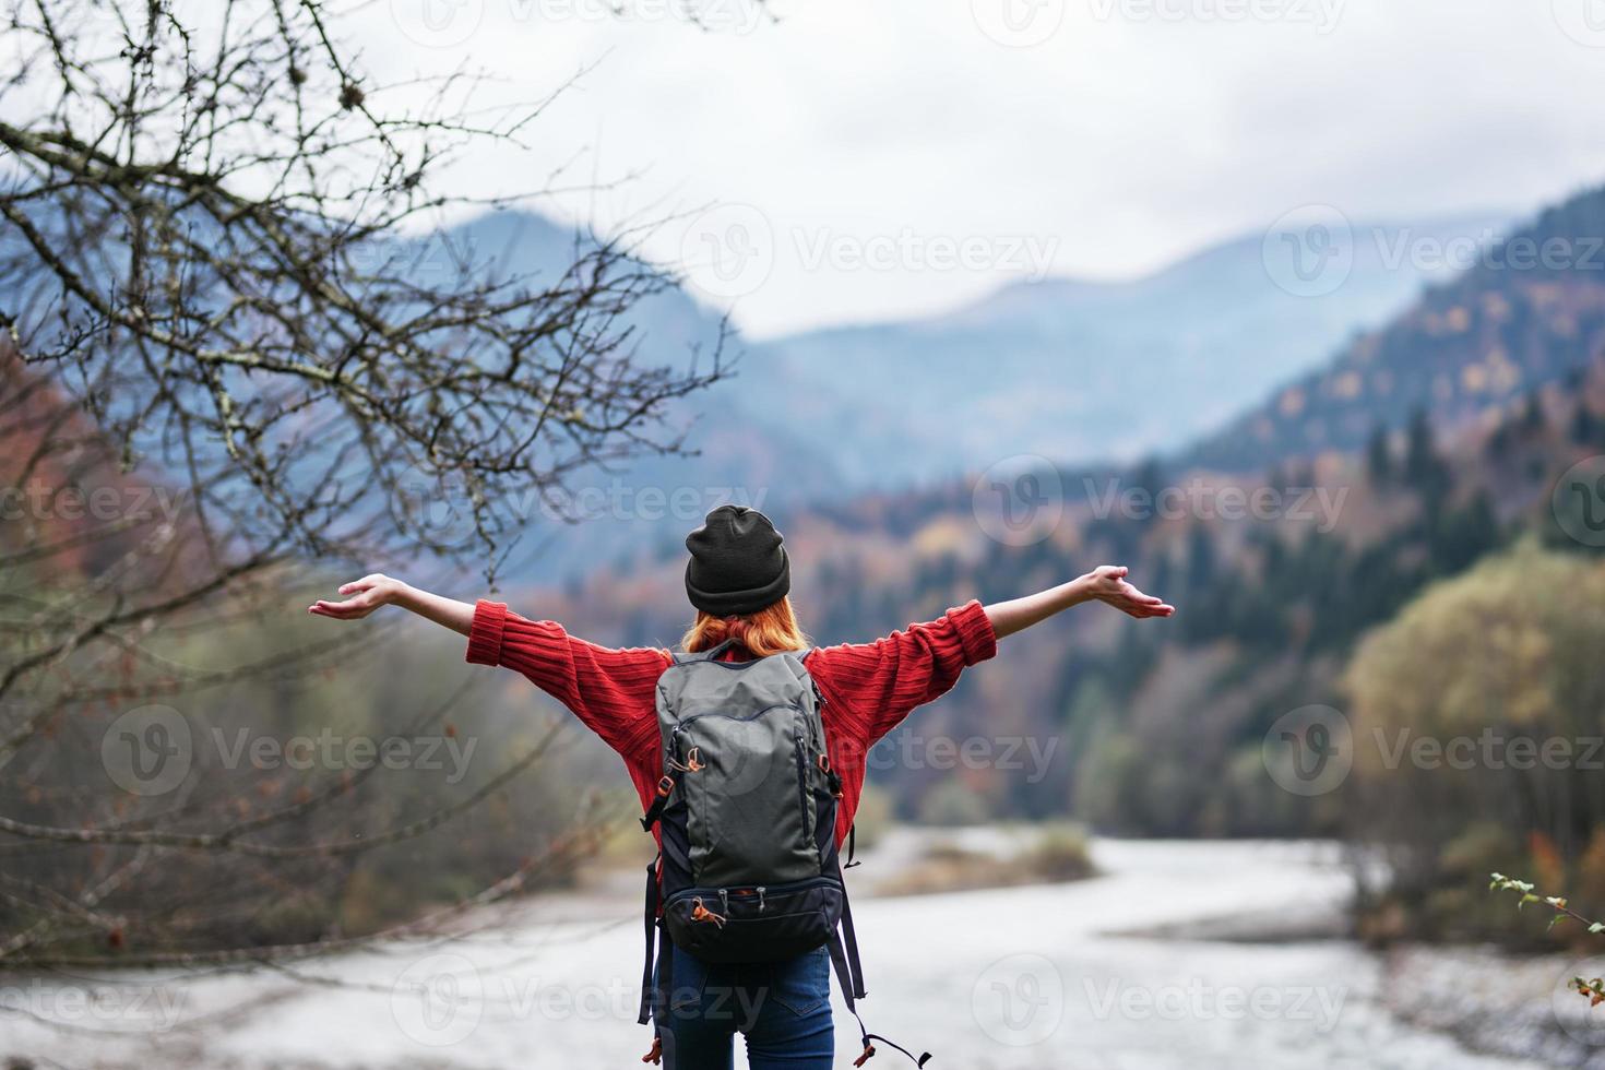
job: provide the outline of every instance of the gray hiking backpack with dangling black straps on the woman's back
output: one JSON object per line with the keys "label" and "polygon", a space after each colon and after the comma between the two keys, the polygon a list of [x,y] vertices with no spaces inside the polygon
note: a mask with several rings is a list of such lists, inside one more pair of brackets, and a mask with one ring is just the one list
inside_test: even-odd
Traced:
{"label": "gray hiking backpack with dangling black straps on the woman's back", "polygon": [[[676,655],[658,679],[663,776],[640,825],[660,828],[661,853],[647,866],[640,1022],[656,1012],[660,1038],[671,940],[705,963],[775,963],[825,946],[854,1017],[865,995],[836,845],[841,776],[825,751],[825,698],[807,651],[719,661],[732,643]],[[904,1051],[862,1020],[859,1028],[863,1059],[872,1040]]]}

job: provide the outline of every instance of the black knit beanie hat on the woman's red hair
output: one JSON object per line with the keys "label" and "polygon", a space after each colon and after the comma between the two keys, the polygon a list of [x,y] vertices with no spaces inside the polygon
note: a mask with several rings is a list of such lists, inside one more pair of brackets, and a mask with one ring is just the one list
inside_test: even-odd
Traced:
{"label": "black knit beanie hat on the woman's red hair", "polygon": [[703,613],[746,616],[791,590],[780,533],[756,509],[719,505],[685,536],[685,597]]}

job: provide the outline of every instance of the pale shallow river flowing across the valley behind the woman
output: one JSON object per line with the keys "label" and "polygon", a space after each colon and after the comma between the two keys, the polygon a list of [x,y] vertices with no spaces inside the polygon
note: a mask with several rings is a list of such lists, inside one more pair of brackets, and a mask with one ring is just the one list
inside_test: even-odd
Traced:
{"label": "pale shallow river flowing across the valley behind the woman", "polygon": [[[870,1028],[929,1049],[933,1070],[1538,1065],[1400,1022],[1379,1003],[1379,959],[1348,942],[1173,935],[1228,916],[1340,911],[1348,877],[1331,845],[1098,841],[1095,860],[1106,876],[1072,884],[860,897]],[[599,919],[575,919],[589,913]],[[250,1070],[640,1065],[639,908],[603,895],[491,921],[289,972],[8,979],[0,1056]],[[1154,926],[1165,935],[1122,935]],[[836,1006],[838,1062],[851,1065],[857,1035]],[[899,1060],[883,1052],[870,1067]]]}

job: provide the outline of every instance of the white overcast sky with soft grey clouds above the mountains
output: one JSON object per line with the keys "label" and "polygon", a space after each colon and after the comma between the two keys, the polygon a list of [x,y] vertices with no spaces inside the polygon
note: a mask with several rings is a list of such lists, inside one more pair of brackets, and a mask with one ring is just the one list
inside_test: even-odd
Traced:
{"label": "white overcast sky with soft grey clouds above the mountains", "polygon": [[[384,77],[541,99],[470,193],[648,244],[753,337],[908,318],[1042,273],[1127,278],[1286,212],[1528,212],[1605,183],[1605,0],[369,0]],[[491,99],[490,96],[485,98]]]}

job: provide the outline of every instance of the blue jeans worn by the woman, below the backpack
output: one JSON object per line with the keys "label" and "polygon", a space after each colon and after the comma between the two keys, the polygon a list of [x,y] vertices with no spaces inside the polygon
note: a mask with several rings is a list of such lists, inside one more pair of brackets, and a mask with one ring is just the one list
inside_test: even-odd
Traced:
{"label": "blue jeans worn by the woman, below the backpack", "polygon": [[815,948],[785,963],[703,963],[672,948],[664,1070],[732,1070],[737,1033],[751,1070],[830,1070],[830,953]]}

